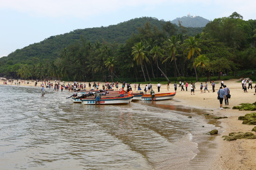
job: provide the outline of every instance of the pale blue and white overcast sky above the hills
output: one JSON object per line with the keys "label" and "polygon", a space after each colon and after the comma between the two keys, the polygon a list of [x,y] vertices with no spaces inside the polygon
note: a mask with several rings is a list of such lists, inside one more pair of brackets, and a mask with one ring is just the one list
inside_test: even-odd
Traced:
{"label": "pale blue and white overcast sky above the hills", "polygon": [[233,12],[256,19],[256,0],[0,0],[0,57],[75,29],[116,25],[138,17],[209,20]]}

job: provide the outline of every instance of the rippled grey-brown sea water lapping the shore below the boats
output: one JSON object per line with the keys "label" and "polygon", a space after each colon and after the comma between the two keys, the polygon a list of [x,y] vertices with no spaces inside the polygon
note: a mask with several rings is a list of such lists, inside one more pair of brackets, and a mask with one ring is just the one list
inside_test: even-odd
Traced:
{"label": "rippled grey-brown sea water lapping the shore below the boats", "polygon": [[[0,169],[209,169],[215,127],[174,100],[73,103],[68,91],[0,85]],[[189,119],[188,116],[192,116]]]}

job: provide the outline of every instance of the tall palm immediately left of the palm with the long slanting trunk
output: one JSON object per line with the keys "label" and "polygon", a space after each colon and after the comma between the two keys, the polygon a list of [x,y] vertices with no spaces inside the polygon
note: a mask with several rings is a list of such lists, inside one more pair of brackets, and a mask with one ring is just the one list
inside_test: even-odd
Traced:
{"label": "tall palm immediately left of the palm with the long slanting trunk", "polygon": [[144,46],[142,45],[141,42],[138,42],[135,46],[132,47],[132,55],[134,56],[133,60],[137,61],[137,64],[140,63],[141,66],[141,70],[143,72],[143,76],[145,78],[145,82],[146,82],[146,76],[143,70],[143,61],[148,61],[148,58],[146,57],[146,51],[144,51]]}

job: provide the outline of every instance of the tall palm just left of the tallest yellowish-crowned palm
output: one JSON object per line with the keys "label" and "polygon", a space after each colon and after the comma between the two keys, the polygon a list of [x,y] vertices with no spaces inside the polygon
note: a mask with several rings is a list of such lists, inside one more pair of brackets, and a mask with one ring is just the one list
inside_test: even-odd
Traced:
{"label": "tall palm just left of the tallest yellowish-crowned palm", "polygon": [[175,56],[178,52],[179,49],[181,49],[181,44],[180,44],[180,41],[178,40],[178,38],[176,36],[172,36],[171,39],[168,39],[167,40],[167,46],[166,46],[166,49],[170,51],[170,55],[169,57],[167,57],[164,61],[166,62],[167,60],[171,59],[171,61],[174,60],[174,64],[175,64],[175,68],[178,72],[178,76],[181,76],[180,72],[179,72],[179,69],[177,67],[177,63],[176,63],[176,59],[175,59]]}

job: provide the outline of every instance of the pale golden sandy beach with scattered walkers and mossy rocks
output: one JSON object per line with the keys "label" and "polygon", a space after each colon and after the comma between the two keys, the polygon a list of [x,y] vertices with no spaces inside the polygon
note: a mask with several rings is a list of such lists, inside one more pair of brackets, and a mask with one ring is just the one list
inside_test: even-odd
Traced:
{"label": "pale golden sandy beach with scattered walkers and mossy rocks", "polygon": [[[238,79],[224,81],[224,85],[227,85],[231,94],[229,105],[227,105],[229,109],[219,110],[217,91],[220,87],[220,81],[215,82],[216,91],[214,93],[212,92],[210,82],[208,82],[208,90],[210,92],[206,91],[206,93],[201,93],[200,84],[203,83],[203,85],[205,85],[205,82],[197,82],[194,95],[191,95],[189,83],[188,91],[186,91],[186,89],[185,91],[181,91],[181,87],[178,87],[174,97],[174,103],[177,105],[208,110],[214,116],[228,117],[228,119],[218,120],[222,129],[215,139],[218,144],[218,154],[216,157],[213,157],[212,160],[209,160],[209,162],[212,162],[212,165],[209,165],[209,170],[256,170],[256,140],[238,139],[235,141],[225,141],[222,138],[222,136],[228,136],[231,132],[252,132],[252,128],[255,127],[255,125],[243,125],[242,121],[238,120],[239,116],[244,116],[245,114],[254,111],[239,111],[232,109],[233,106],[237,106],[243,102],[256,102],[256,95],[253,95],[255,93],[255,89],[247,89],[247,93],[244,93],[241,83],[238,83],[237,81]],[[54,81],[52,82],[55,83]],[[3,85],[3,80],[0,81],[0,84]],[[100,83],[100,87],[102,84],[103,83]],[[10,83],[8,82],[7,85],[10,85]],[[12,85],[14,85],[14,83]],[[35,86],[35,82],[30,82],[29,84],[22,83],[21,85]],[[88,82],[86,82],[86,85],[88,86]],[[140,86],[142,90],[145,87],[143,84]],[[156,84],[152,84],[152,86],[155,93],[158,93]],[[255,83],[253,83],[253,87],[254,86]],[[37,87],[40,87],[40,83],[38,83]],[[134,84],[131,84],[131,87],[134,89]],[[170,84],[169,91],[167,91],[166,84],[161,85],[159,93],[168,92],[174,92],[174,84]],[[225,106],[224,101],[223,103],[223,106]],[[253,133],[256,134],[255,132]]]}

